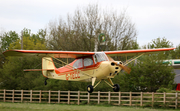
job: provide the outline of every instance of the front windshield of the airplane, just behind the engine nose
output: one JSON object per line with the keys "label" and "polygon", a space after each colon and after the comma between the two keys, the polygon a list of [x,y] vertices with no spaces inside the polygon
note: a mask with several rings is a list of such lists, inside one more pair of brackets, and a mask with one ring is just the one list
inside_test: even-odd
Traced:
{"label": "front windshield of the airplane, just behind the engine nose", "polygon": [[96,53],[94,59],[96,62],[108,61],[108,58],[105,53]]}

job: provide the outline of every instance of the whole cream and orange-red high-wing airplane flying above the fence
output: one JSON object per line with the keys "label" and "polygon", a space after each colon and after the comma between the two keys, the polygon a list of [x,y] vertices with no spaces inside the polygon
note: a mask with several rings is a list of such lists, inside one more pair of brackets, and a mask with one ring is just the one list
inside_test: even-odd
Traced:
{"label": "whole cream and orange-red high-wing airplane flying above the fence", "polygon": [[[120,90],[118,84],[112,82],[121,70],[130,73],[131,69],[127,67],[129,63],[145,54],[153,54],[160,51],[170,51],[175,48],[160,49],[139,49],[139,50],[121,50],[121,51],[50,51],[50,50],[8,50],[3,54],[5,56],[39,56],[42,57],[42,69],[25,69],[24,71],[42,71],[42,75],[47,79],[59,79],[66,81],[92,82],[87,86],[87,91],[92,93],[94,88],[104,80],[115,92]],[[114,61],[113,56],[126,56],[126,62]],[[127,60],[127,56],[133,56]],[[56,68],[53,59],[65,64],[65,66]],[[67,62],[58,58],[67,58]],[[75,60],[68,63],[68,58]],[[108,82],[107,82],[107,81]],[[95,85],[95,81],[97,84]]]}

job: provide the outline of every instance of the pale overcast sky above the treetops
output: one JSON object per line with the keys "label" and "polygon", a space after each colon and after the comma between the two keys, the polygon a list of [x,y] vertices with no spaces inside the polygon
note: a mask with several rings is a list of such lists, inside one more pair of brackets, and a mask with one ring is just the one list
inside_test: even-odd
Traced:
{"label": "pale overcast sky above the treetops", "polygon": [[126,8],[140,46],[158,37],[165,37],[174,47],[180,44],[180,0],[0,0],[0,34],[20,33],[24,28],[37,33],[50,21],[66,20],[68,13],[88,4],[119,13]]}

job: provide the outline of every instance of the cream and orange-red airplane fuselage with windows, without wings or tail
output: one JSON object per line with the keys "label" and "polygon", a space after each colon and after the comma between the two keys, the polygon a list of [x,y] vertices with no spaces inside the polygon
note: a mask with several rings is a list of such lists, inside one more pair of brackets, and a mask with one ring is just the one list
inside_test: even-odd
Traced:
{"label": "cream and orange-red airplane fuselage with windows, without wings or tail", "polygon": [[92,56],[77,58],[64,67],[55,68],[49,72],[48,78],[90,82],[92,77],[97,80],[114,78],[120,70],[121,68],[112,64],[104,52],[98,52]]}

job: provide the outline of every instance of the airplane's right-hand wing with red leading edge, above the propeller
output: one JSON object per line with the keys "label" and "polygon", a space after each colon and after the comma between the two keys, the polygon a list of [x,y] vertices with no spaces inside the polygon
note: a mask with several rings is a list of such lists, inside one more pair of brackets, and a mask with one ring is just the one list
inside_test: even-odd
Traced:
{"label": "airplane's right-hand wing with red leading edge, above the propeller", "polygon": [[121,51],[105,51],[108,56],[136,56],[142,53],[151,54],[160,51],[170,51],[175,48],[160,48],[160,49],[140,49],[140,50],[121,50]]}

